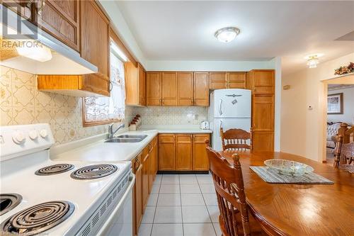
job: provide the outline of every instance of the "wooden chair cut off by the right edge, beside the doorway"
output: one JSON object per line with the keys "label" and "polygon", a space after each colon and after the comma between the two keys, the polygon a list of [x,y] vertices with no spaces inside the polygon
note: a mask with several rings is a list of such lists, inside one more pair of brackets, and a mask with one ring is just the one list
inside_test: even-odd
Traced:
{"label": "wooden chair cut off by the right edge, beside the doorway", "polygon": [[354,173],[354,142],[343,143],[343,135],[336,137],[336,152],[333,166]]}

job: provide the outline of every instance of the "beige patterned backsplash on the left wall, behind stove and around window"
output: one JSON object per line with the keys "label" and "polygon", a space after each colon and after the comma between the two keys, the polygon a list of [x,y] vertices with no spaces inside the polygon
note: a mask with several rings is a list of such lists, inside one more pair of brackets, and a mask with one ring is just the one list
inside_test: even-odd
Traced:
{"label": "beige patterned backsplash on the left wall, behind stove and around window", "polygon": [[[37,90],[35,74],[0,66],[0,125],[49,123],[56,145],[106,133],[108,125],[84,128],[81,98]],[[126,119],[132,109],[127,108]]]}

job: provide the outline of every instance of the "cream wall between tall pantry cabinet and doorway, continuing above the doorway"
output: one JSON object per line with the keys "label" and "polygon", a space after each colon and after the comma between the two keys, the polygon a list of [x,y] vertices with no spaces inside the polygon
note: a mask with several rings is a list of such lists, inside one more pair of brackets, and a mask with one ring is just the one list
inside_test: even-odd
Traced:
{"label": "cream wall between tall pantry cabinet and doorway, continuing above the doorway", "polygon": [[[317,68],[303,69],[282,77],[280,150],[321,162],[324,157],[326,90],[322,82],[334,77],[334,69],[354,61],[354,53]],[[305,62],[304,62],[305,63]],[[309,109],[309,106],[312,109]]]}

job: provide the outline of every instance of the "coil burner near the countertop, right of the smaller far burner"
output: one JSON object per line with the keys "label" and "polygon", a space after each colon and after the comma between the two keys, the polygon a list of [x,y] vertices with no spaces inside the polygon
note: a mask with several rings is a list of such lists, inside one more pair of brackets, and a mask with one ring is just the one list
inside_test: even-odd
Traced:
{"label": "coil burner near the countertop, right of the smaller far burner", "polygon": [[73,179],[98,179],[118,170],[114,164],[93,164],[82,167],[71,174]]}

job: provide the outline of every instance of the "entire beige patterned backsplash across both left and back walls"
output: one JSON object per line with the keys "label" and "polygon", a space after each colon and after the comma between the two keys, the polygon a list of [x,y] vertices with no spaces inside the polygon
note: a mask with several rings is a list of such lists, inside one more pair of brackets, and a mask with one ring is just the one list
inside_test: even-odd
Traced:
{"label": "entire beige patterned backsplash across both left and back walls", "polygon": [[[108,125],[82,126],[81,98],[37,90],[35,74],[0,66],[0,125],[49,123],[56,145],[106,133]],[[140,114],[142,125],[199,125],[205,107],[130,107],[125,124]]]}

